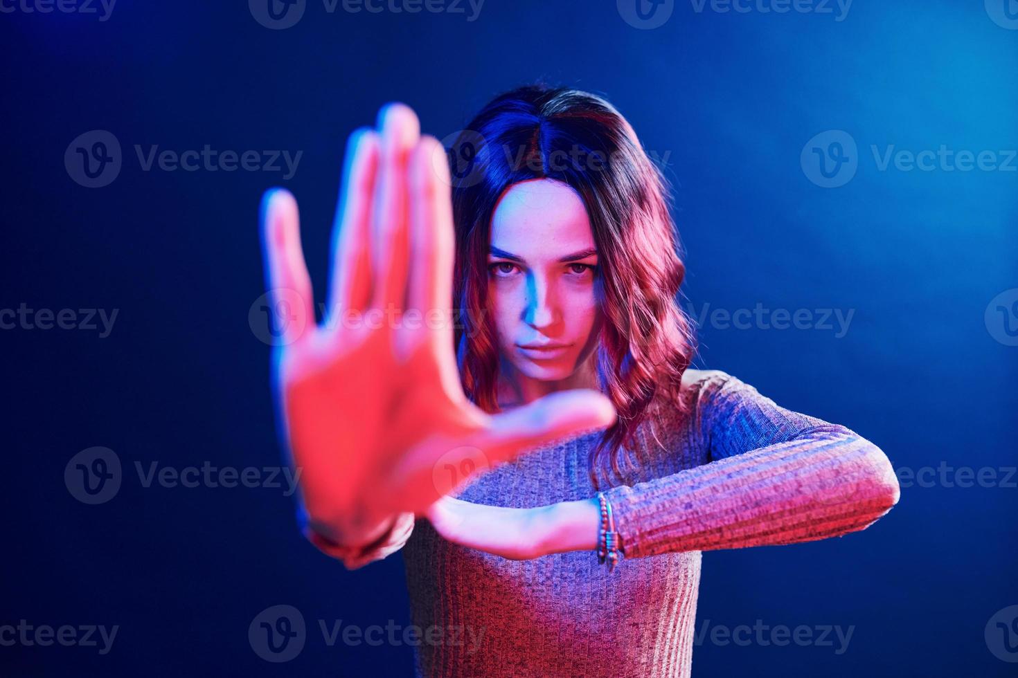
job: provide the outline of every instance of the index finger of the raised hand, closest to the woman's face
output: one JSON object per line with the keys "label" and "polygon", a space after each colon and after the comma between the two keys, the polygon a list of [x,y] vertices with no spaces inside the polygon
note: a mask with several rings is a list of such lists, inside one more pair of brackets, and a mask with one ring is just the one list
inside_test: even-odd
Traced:
{"label": "index finger of the raised hand, closest to the woman's face", "polygon": [[[436,153],[442,156],[436,164]],[[436,167],[444,168],[445,178]],[[440,169],[439,172],[442,170]],[[453,348],[452,279],[455,259],[449,166],[445,148],[422,136],[410,157],[410,259],[407,308],[421,314],[419,325],[439,362],[446,391],[462,393]]]}

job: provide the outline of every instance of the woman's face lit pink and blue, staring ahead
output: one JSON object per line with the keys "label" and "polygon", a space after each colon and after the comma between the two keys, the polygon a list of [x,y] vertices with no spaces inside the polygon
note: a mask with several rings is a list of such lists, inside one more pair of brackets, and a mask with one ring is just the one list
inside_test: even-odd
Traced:
{"label": "woman's face lit pink and blue, staring ahead", "polygon": [[[566,379],[597,347],[598,252],[582,199],[568,185],[510,186],[492,215],[489,295],[502,357],[523,376]],[[528,348],[528,347],[554,348]]]}

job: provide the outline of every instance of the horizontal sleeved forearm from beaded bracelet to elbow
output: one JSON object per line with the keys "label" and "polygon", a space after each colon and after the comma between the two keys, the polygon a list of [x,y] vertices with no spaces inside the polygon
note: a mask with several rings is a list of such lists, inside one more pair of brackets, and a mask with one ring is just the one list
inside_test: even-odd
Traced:
{"label": "horizontal sleeved forearm from beaded bracelet to elbow", "polygon": [[884,452],[843,434],[773,444],[606,491],[627,558],[790,544],[862,530],[898,501]]}

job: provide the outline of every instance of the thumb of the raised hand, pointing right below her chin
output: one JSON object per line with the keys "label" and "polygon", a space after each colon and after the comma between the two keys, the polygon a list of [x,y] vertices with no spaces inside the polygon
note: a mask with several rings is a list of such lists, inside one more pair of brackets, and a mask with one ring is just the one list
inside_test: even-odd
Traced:
{"label": "thumb of the raised hand, pointing right below her chin", "polygon": [[493,463],[507,460],[560,438],[607,428],[616,416],[612,402],[599,391],[559,391],[494,415],[480,445]]}

